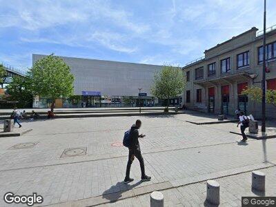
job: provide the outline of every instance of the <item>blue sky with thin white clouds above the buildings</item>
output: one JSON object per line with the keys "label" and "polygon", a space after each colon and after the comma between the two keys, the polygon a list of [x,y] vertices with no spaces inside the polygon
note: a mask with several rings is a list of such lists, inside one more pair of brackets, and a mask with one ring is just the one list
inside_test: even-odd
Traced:
{"label": "blue sky with thin white clouds above the buildings", "polygon": [[[267,0],[267,26],[276,1]],[[262,0],[0,0],[0,62],[26,70],[32,53],[184,66],[262,28]]]}

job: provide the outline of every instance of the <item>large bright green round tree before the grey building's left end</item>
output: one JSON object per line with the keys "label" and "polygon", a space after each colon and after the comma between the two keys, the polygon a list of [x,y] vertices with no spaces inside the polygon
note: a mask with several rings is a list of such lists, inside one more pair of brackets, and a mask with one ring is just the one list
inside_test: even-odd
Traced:
{"label": "large bright green round tree before the grey building's left end", "polygon": [[34,63],[28,72],[34,95],[51,99],[54,111],[55,99],[70,97],[73,93],[74,76],[63,59],[53,54]]}

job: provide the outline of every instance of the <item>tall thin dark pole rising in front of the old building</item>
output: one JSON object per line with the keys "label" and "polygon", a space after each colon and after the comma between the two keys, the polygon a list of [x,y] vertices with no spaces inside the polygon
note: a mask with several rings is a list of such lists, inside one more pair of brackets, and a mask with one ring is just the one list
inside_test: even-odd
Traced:
{"label": "tall thin dark pole rising in front of the old building", "polygon": [[264,0],[263,79],[262,79],[262,132],[266,132],[266,0]]}

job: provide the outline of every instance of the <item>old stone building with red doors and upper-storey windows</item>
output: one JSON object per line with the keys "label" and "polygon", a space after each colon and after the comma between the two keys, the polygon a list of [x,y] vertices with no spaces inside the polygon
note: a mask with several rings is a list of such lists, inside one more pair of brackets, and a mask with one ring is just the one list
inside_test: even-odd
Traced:
{"label": "old stone building with red doors and upper-storey windows", "polygon": [[[184,66],[187,85],[183,104],[190,109],[235,115],[235,110],[261,115],[261,104],[242,91],[262,87],[262,32],[257,28],[239,34],[205,50],[205,57]],[[266,88],[276,90],[276,30],[266,33]],[[276,117],[276,107],[267,104],[268,117]]]}

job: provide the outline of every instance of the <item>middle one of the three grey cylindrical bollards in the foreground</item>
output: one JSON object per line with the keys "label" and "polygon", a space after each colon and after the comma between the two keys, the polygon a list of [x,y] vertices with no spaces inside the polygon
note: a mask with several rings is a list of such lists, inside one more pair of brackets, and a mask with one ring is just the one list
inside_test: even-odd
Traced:
{"label": "middle one of the three grey cylindrical bollards in the foreground", "polygon": [[219,205],[219,183],[215,180],[207,181],[207,197],[208,203]]}

